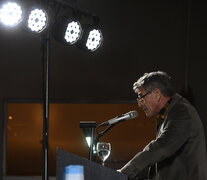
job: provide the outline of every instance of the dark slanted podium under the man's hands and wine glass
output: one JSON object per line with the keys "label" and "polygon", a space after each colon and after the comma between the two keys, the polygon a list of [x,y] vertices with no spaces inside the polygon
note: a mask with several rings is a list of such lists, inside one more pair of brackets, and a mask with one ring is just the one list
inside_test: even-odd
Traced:
{"label": "dark slanted podium under the man's hands and wine glass", "polygon": [[127,180],[125,174],[72,153],[57,149],[56,180],[63,180],[64,168],[68,165],[83,165],[84,180]]}

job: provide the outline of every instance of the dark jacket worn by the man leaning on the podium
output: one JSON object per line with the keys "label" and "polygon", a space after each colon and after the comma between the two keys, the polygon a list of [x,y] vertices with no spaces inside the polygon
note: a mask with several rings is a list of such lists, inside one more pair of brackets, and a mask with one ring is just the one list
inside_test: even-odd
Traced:
{"label": "dark jacket worn by the man leaning on the podium", "polygon": [[[195,108],[176,94],[157,137],[129,161],[121,172],[129,179],[207,180],[207,156],[203,124]],[[149,174],[148,174],[149,176]]]}

